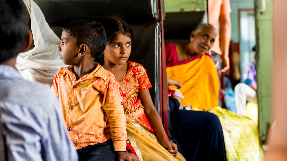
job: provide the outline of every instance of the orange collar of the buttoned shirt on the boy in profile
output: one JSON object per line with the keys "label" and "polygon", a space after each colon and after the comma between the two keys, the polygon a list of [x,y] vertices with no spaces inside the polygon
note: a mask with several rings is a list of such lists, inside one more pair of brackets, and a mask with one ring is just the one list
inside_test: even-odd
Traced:
{"label": "orange collar of the buttoned shirt on the boy in profile", "polygon": [[[96,63],[96,62],[94,62],[94,66],[96,66],[96,69],[93,72],[91,72],[90,74],[87,74],[86,78],[91,79],[93,77],[100,77],[100,78],[106,80],[106,70],[104,69],[104,67],[102,67],[99,63]],[[65,70],[58,71],[58,73],[61,75],[65,75],[65,73],[72,75],[72,74],[74,74],[73,68],[74,68],[74,66],[70,65]]]}

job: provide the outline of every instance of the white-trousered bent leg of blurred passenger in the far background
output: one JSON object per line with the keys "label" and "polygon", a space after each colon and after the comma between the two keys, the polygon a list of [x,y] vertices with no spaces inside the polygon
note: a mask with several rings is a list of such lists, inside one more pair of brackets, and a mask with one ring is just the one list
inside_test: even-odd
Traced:
{"label": "white-trousered bent leg of blurred passenger in the far background", "polygon": [[238,83],[234,88],[236,113],[247,116],[246,101],[257,102],[256,91],[245,83]]}

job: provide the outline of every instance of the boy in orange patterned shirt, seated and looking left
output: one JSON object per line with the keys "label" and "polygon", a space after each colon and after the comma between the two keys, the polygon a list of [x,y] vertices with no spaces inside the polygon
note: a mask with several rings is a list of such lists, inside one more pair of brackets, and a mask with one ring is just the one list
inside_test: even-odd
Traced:
{"label": "boy in orange patterned shirt, seated and looking left", "polygon": [[68,67],[55,74],[52,90],[62,112],[79,160],[126,160],[127,134],[119,86],[115,76],[94,58],[106,47],[102,26],[75,20],[62,29],[60,59]]}

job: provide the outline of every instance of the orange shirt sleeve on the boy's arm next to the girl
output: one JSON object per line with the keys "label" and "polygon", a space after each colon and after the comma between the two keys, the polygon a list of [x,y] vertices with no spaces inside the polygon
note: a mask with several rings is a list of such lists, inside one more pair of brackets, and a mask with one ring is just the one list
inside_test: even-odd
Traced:
{"label": "orange shirt sleeve on the boy's arm next to the girl", "polygon": [[[109,77],[109,78],[108,78]],[[110,133],[115,151],[126,151],[127,149],[127,131],[125,127],[125,114],[122,105],[122,98],[119,93],[119,85],[115,76],[107,74],[106,92],[104,95],[102,107],[110,126]]]}

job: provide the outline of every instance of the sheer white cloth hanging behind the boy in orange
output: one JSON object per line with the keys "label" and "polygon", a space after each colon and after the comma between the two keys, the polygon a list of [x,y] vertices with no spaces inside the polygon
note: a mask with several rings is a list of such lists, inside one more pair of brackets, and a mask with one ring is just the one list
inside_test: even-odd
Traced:
{"label": "sheer white cloth hanging behind the boy in orange", "polygon": [[26,80],[52,85],[54,74],[66,66],[57,51],[61,40],[49,27],[39,6],[32,0],[23,1],[30,13],[35,47],[18,55],[16,68]]}

